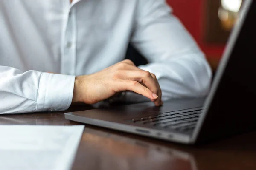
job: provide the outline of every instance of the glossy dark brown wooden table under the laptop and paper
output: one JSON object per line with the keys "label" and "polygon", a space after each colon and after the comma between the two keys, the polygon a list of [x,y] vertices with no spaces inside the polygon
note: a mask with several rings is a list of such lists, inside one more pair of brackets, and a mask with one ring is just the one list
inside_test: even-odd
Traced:
{"label": "glossy dark brown wooden table under the laptop and paper", "polygon": [[[45,112],[0,115],[0,125],[80,124],[65,119],[64,112]],[[186,146],[85,125],[73,170],[256,170],[256,132]]]}

